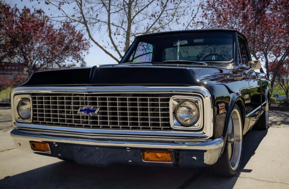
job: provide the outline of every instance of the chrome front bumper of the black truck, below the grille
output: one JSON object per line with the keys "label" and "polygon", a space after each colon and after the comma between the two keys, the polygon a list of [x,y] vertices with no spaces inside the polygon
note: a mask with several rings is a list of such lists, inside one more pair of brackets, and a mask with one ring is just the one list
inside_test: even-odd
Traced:
{"label": "chrome front bumper of the black truck, below the grille", "polygon": [[[219,158],[222,139],[102,138],[94,135],[14,129],[11,137],[19,150],[71,159],[83,165],[132,164],[147,166],[206,167]],[[49,144],[51,153],[32,150],[29,141]],[[144,162],[142,150],[170,150],[172,163]]]}

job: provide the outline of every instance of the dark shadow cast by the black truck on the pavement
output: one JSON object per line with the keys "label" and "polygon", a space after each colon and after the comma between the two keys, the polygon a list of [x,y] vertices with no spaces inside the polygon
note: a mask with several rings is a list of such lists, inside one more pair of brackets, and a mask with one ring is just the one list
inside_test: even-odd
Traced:
{"label": "dark shadow cast by the black truck on the pavement", "polygon": [[[269,128],[270,129],[270,128]],[[244,136],[240,172],[267,134],[252,130]],[[199,175],[199,171],[201,174]],[[240,173],[238,173],[240,174]],[[238,175],[237,174],[237,175]],[[196,176],[197,175],[197,176]],[[193,178],[193,179],[192,179]],[[233,188],[238,177],[223,178],[204,169],[111,166],[89,167],[58,162],[0,180],[0,188]]]}

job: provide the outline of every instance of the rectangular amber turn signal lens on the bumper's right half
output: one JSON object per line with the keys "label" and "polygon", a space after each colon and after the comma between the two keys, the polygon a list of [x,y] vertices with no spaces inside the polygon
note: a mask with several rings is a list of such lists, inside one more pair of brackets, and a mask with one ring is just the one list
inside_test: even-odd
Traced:
{"label": "rectangular amber turn signal lens on the bumper's right half", "polygon": [[173,162],[172,153],[169,151],[142,151],[143,161],[153,161],[153,162]]}

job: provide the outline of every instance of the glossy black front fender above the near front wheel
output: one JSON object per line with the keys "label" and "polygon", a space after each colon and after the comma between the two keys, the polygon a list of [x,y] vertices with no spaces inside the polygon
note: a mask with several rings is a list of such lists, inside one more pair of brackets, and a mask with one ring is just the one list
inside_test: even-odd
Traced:
{"label": "glossy black front fender above the near front wheel", "polygon": [[[241,110],[243,121],[243,134],[247,131],[250,118],[245,115],[249,113],[250,88],[246,78],[237,74],[224,74],[210,80],[201,80],[199,86],[207,88],[212,96],[214,107],[214,138],[225,139],[229,116],[234,105],[237,103]],[[218,104],[225,103],[225,112],[218,113]]]}

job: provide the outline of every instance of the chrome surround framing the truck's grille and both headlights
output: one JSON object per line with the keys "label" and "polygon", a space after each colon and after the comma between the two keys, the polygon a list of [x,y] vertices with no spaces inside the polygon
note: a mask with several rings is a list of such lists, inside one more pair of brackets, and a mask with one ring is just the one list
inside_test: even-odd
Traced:
{"label": "chrome surround framing the truck's grille and both headlights", "polygon": [[[128,130],[104,130],[87,129],[59,126],[45,126],[35,124],[17,123],[14,111],[12,111],[12,122],[15,128],[42,129],[45,131],[63,131],[91,134],[119,134],[119,135],[159,135],[159,136],[187,136],[208,139],[213,135],[213,104],[210,92],[201,86],[36,86],[36,87],[17,87],[11,93],[11,99],[16,94],[27,93],[79,93],[79,94],[107,94],[107,93],[172,93],[184,95],[197,95],[206,101],[207,107],[204,107],[205,122],[201,131],[128,131]],[[14,103],[11,101],[11,108],[14,110]]]}

